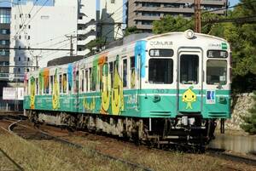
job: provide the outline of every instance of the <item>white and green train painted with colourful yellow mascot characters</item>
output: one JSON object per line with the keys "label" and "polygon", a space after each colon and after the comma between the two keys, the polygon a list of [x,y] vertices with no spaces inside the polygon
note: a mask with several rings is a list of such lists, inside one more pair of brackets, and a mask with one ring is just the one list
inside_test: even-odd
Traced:
{"label": "white and green train painted with colourful yellow mascot characters", "polygon": [[154,145],[207,145],[230,118],[230,44],[192,30],[133,40],[25,77],[34,123]]}

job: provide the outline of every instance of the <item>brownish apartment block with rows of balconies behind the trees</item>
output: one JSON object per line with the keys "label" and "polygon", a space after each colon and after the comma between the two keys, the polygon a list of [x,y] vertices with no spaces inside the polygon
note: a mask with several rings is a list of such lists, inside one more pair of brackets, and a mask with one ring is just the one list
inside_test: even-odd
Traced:
{"label": "brownish apartment block with rows of balconies behind the trees", "polygon": [[[201,0],[201,9],[216,10],[216,14],[225,14],[228,0]],[[160,20],[166,14],[191,17],[195,13],[195,0],[128,0],[126,23],[128,27],[137,26],[143,32],[151,32],[154,20]]]}

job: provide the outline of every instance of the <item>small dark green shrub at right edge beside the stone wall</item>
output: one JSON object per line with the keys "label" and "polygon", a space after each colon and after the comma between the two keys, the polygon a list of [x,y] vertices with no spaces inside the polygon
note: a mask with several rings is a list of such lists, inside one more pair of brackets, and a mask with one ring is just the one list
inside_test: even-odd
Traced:
{"label": "small dark green shrub at right edge beside the stone wall", "polygon": [[241,124],[241,128],[249,134],[256,134],[256,91],[253,92],[254,105],[249,110],[250,116],[241,117],[245,123]]}

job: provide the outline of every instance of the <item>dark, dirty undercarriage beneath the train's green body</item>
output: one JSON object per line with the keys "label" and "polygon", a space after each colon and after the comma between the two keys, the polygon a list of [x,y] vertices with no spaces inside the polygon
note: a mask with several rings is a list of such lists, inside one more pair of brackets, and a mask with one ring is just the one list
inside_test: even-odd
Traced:
{"label": "dark, dirty undercarriage beneath the train's green body", "polygon": [[67,112],[25,111],[32,123],[47,123],[69,129],[81,129],[126,138],[137,143],[161,147],[189,145],[204,148],[214,138],[214,119],[201,115],[181,115],[176,118],[138,118]]}

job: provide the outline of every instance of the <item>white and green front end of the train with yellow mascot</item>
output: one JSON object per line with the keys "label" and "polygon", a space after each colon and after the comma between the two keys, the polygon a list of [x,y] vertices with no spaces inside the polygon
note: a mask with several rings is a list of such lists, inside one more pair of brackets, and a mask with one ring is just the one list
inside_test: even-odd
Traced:
{"label": "white and green front end of the train with yellow mascot", "polygon": [[230,118],[230,45],[193,31],[148,38],[142,61],[143,117],[162,144],[207,144]]}

